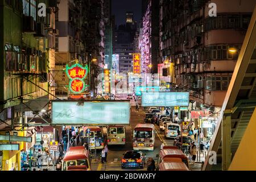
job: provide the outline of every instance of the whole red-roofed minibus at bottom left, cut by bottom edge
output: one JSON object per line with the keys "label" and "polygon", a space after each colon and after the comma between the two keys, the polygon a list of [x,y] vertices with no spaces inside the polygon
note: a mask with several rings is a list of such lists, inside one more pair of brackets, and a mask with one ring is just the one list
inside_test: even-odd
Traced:
{"label": "whole red-roofed minibus at bottom left, cut by bottom edge", "polygon": [[90,171],[90,154],[83,146],[70,147],[65,154],[62,171]]}

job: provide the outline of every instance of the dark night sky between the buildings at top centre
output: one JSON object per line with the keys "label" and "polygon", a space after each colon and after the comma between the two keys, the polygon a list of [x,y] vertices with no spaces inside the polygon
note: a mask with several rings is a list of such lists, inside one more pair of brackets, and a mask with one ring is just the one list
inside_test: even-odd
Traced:
{"label": "dark night sky between the buildings at top centre", "polygon": [[115,15],[115,24],[125,24],[126,11],[133,11],[134,20],[139,22],[142,18],[143,0],[112,0],[112,14]]}

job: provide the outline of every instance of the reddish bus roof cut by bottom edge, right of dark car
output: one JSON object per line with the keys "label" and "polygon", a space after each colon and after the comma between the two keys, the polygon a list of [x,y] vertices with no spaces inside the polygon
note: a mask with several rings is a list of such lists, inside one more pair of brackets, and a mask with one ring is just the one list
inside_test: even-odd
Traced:
{"label": "reddish bus roof cut by bottom edge, right of dark car", "polygon": [[189,171],[183,162],[162,162],[159,164],[159,171]]}

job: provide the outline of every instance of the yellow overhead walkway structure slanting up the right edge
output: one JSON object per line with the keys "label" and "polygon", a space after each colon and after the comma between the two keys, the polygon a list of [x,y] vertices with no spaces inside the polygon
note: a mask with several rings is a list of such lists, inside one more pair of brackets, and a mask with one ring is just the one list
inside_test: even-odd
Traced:
{"label": "yellow overhead walkway structure slanting up the right edge", "polygon": [[[256,148],[255,22],[256,6],[222,105],[203,170],[256,170],[254,152]],[[217,164],[212,164],[214,160],[210,151],[217,152]]]}

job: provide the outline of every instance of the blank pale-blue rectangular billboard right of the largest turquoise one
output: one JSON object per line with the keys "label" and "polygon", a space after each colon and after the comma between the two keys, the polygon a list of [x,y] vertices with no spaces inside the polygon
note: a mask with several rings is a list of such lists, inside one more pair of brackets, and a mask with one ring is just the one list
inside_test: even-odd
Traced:
{"label": "blank pale-blue rectangular billboard right of the largest turquoise one", "polygon": [[142,92],[142,106],[188,106],[189,92]]}

